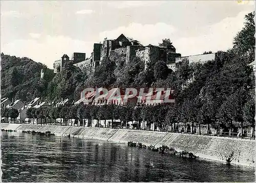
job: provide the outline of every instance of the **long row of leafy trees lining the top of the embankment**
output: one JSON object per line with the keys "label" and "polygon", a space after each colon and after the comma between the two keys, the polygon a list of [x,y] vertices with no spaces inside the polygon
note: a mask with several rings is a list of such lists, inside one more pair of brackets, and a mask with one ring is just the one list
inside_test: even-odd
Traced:
{"label": "long row of leafy trees lining the top of the embankment", "polygon": [[[200,99],[198,103],[186,100],[181,106],[174,104],[157,104],[155,106],[94,106],[79,104],[78,106],[57,108],[30,108],[27,111],[27,118],[44,119],[42,121],[46,121],[48,118],[51,120],[51,123],[53,122],[55,124],[57,118],[62,118],[60,124],[67,124],[68,119],[75,119],[76,123],[82,119],[95,119],[98,121],[98,126],[99,120],[104,120],[106,126],[106,120],[119,119],[120,125],[122,126],[126,126],[129,121],[137,121],[139,124],[142,123],[142,126],[145,128],[151,128],[151,124],[154,123],[154,126],[160,129],[172,128],[172,130],[177,129],[179,124],[183,126],[189,124],[193,132],[194,127],[199,125],[200,129],[201,124],[207,124],[208,131],[210,126],[216,128],[217,131],[219,131],[221,127],[224,132],[231,132],[232,129],[244,127],[254,128],[254,97],[248,98],[244,106],[240,105],[241,102],[238,96],[232,96],[232,98],[227,101],[232,103],[233,108],[229,108],[228,104],[225,102],[221,106],[221,109],[218,110],[216,109],[216,103],[209,101],[207,106],[205,103],[200,104]],[[227,109],[224,109],[225,107],[227,107]],[[234,115],[234,111],[238,111],[239,113]],[[235,130],[235,132],[237,131]]]}

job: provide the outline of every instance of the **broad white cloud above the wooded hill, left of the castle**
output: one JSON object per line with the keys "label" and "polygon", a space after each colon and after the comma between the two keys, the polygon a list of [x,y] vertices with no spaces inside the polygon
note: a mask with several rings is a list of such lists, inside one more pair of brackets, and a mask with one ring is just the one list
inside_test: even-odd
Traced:
{"label": "broad white cloud above the wooded hill, left of the castle", "polygon": [[72,39],[66,36],[45,36],[42,39],[19,39],[3,44],[1,52],[16,57],[29,57],[35,62],[46,64],[53,68],[55,60],[59,60],[63,54],[70,58],[74,52],[86,53],[91,56],[93,50],[92,42]]}

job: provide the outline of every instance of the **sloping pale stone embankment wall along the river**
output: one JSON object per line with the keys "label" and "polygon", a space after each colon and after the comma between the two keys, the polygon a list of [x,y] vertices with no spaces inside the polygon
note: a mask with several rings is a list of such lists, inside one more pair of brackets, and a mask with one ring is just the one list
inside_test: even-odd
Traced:
{"label": "sloping pale stone embankment wall along the river", "polygon": [[200,158],[225,162],[231,154],[231,163],[255,167],[255,141],[230,139],[212,136],[197,136],[164,132],[140,131],[132,129],[111,129],[77,126],[53,126],[33,124],[2,123],[1,129],[11,129],[22,132],[50,131],[56,136],[98,139],[113,142],[139,142],[156,147],[167,145],[178,151],[186,150]]}

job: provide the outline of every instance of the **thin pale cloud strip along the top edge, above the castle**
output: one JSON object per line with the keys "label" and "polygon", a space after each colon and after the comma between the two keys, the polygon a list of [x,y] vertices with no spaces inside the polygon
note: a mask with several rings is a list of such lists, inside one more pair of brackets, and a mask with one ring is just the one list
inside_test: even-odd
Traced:
{"label": "thin pale cloud strip along the top edge, above the castle", "polygon": [[114,8],[137,8],[137,7],[148,7],[148,6],[158,6],[163,2],[156,1],[122,1],[122,2],[109,2],[108,5]]}

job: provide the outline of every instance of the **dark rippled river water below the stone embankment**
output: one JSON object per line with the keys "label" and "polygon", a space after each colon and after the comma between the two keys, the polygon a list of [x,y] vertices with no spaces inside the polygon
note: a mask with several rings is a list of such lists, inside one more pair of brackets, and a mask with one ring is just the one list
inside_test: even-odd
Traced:
{"label": "dark rippled river water below the stone embankment", "polygon": [[254,168],[184,160],[127,144],[16,132],[2,132],[1,143],[4,182],[254,181]]}

